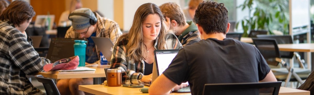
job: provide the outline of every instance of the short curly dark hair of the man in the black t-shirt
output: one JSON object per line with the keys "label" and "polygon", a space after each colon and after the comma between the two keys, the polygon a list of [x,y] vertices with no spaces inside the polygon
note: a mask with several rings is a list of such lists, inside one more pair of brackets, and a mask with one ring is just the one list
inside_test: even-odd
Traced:
{"label": "short curly dark hair of the man in the black t-shirt", "polygon": [[193,21],[203,27],[206,34],[224,33],[228,26],[228,10],[224,3],[204,1],[198,5]]}

